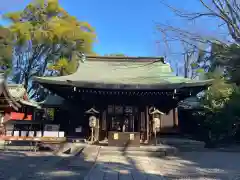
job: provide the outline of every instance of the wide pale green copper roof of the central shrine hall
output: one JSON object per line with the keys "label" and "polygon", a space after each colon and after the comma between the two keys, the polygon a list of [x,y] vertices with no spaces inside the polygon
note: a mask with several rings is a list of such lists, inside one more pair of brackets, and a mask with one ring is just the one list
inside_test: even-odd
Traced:
{"label": "wide pale green copper roof of the central shrine hall", "polygon": [[78,70],[68,76],[35,77],[42,84],[71,85],[86,88],[159,89],[204,86],[210,81],[196,81],[175,76],[162,58],[88,56]]}

